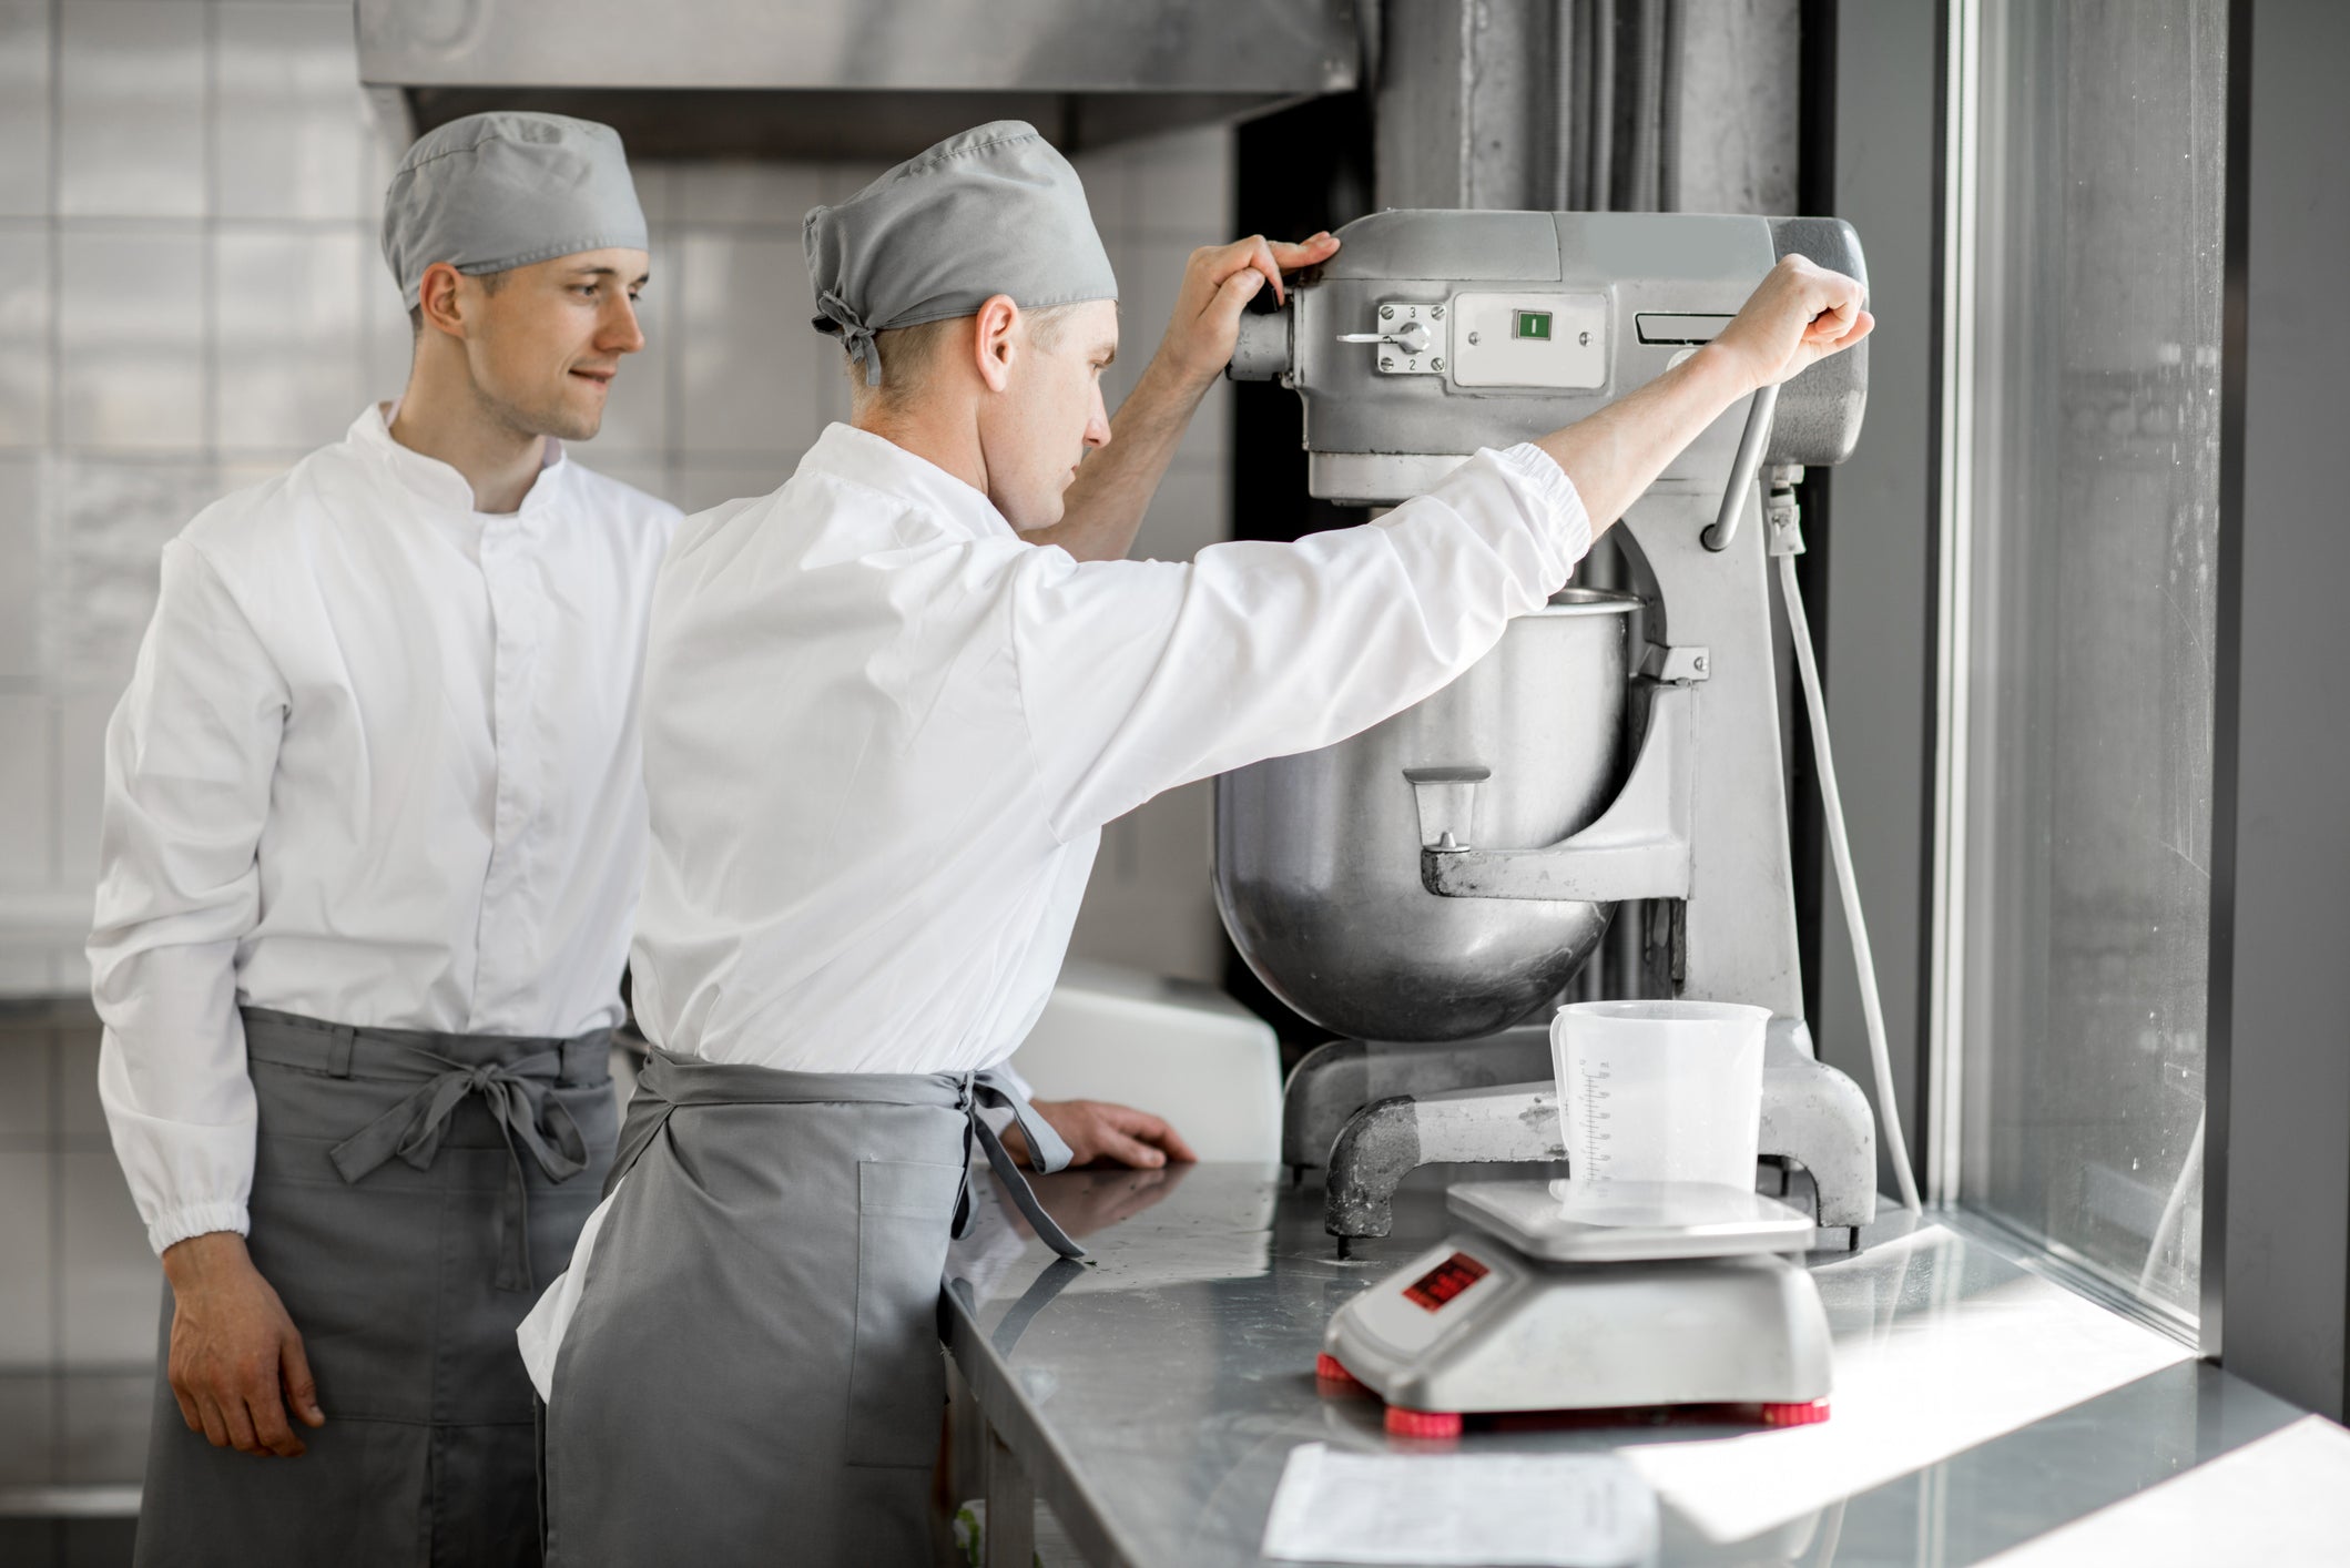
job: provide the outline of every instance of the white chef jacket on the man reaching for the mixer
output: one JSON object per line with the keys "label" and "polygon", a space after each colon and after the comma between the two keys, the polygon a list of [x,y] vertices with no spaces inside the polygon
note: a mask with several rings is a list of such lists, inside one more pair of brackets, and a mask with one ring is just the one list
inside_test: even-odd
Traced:
{"label": "white chef jacket on the man reaching for the mixer", "polygon": [[639,1023],[764,1067],[1001,1063],[1104,823],[1417,703],[1589,543],[1558,463],[1513,447],[1365,527],[1076,562],[827,428],[780,491],[691,517],[660,569]]}

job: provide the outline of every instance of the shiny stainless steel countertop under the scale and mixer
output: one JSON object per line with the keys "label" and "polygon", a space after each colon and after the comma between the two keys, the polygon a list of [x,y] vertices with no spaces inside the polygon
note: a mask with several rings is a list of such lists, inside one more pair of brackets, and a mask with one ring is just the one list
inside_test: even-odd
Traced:
{"label": "shiny stainless steel countertop under the scale and mixer", "polygon": [[[1314,1354],[1340,1302],[1448,1229],[1441,1178],[1419,1173],[1396,1199],[1396,1232],[1351,1262],[1321,1232],[1321,1190],[1290,1190],[1274,1166],[1041,1178],[1090,1251],[1083,1265],[1053,1258],[989,1187],[996,1201],[949,1255],[949,1352],[1093,1563],[1260,1563],[1290,1448],[1389,1446],[1377,1401],[1316,1394]],[[1864,1241],[1812,1258],[1835,1335],[1828,1422],[1471,1427],[1459,1453],[1626,1455],[1659,1493],[1664,1563],[1955,1568],[2016,1547],[2028,1561],[2122,1561],[2089,1544],[2115,1521],[2117,1552],[2129,1528],[2181,1540],[2138,1493],[2254,1443],[2214,1493],[2247,1495],[2237,1472],[2294,1446],[2270,1467],[2280,1486],[2301,1495],[2331,1476],[2350,1497],[2350,1434],[2305,1429],[2315,1418],[2019,1267],[1965,1222],[1913,1227],[1894,1211]],[[2181,1500],[2162,1488],[2174,1514]],[[2303,1537],[2308,1561],[2341,1552],[2341,1519],[2315,1505],[2305,1519],[2272,1500],[2244,1507],[2284,1530],[2261,1561],[2294,1561]]]}

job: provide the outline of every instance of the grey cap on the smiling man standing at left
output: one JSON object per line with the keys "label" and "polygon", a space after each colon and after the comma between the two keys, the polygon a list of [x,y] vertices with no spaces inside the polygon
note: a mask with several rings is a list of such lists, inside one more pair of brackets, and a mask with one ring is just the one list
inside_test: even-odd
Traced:
{"label": "grey cap on the smiling man standing at left", "polygon": [[496,110],[421,136],[383,193],[383,261],[409,310],[425,268],[458,273],[651,249],[620,134],[595,120]]}

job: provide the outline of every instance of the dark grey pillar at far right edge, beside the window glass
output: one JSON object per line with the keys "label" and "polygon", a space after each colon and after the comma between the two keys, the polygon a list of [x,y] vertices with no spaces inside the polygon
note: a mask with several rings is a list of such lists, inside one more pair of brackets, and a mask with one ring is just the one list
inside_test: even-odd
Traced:
{"label": "dark grey pillar at far right edge, beside the window glass", "polygon": [[2237,0],[2228,38],[2204,1349],[2350,1408],[2350,7]]}

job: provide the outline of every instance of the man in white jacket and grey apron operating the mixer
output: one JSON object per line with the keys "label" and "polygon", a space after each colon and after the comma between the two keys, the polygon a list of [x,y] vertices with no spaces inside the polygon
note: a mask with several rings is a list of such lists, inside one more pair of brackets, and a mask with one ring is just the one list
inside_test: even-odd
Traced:
{"label": "man in white jacket and grey apron operating the mixer", "polygon": [[[632,969],[656,1053],[611,1199],[522,1328],[566,1568],[928,1561],[973,1143],[1076,1253],[978,1107],[1020,1110],[999,1067],[1102,825],[1441,689],[1725,409],[1871,324],[1856,282],[1784,263],[1683,367],[1379,522],[1128,562],[1180,421],[1121,414],[1112,442],[1116,280],[1032,127],[811,212],[806,249],[853,421],[682,524],[653,602]],[[1142,383],[1196,404],[1246,301],[1330,249],[1194,254]],[[1104,489],[1133,498],[1116,527]]]}

